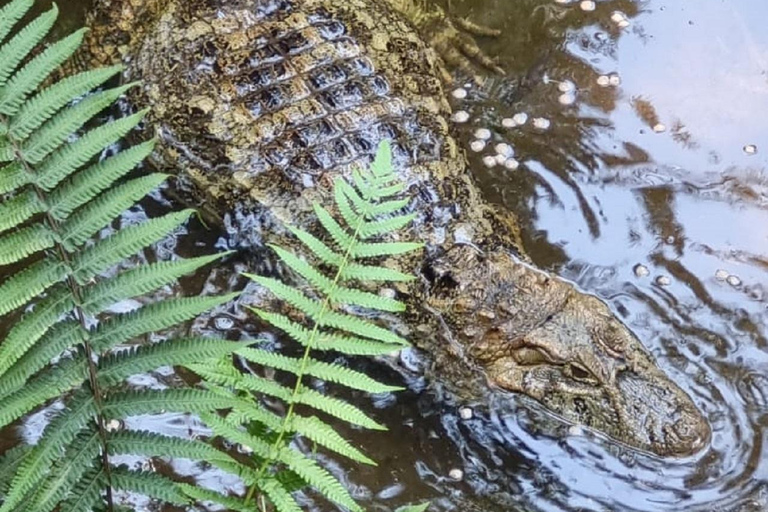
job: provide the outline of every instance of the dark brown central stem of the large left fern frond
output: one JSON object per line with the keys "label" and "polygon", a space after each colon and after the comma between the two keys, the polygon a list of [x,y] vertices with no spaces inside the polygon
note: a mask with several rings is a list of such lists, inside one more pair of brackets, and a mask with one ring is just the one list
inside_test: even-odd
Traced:
{"label": "dark brown central stem of the large left fern frond", "polygon": [[[0,114],[0,124],[2,124],[3,126],[9,126],[8,118],[2,114]],[[7,137],[8,137],[8,141],[13,147],[13,152],[16,157],[16,160],[24,168],[24,172],[28,174],[30,177],[34,177],[36,175],[35,169],[29,164],[29,162],[27,162],[24,159],[24,155],[15,138],[12,137],[10,134],[8,134]],[[48,224],[48,227],[52,231],[54,231],[57,234],[60,234],[61,226],[59,222],[55,218],[53,218],[53,216],[50,213],[50,209],[48,208],[45,193],[37,185],[35,180],[31,180],[31,183],[38,201],[40,201],[40,203],[45,206],[45,222]],[[74,298],[75,317],[80,323],[80,328],[83,329],[83,331],[85,332],[83,348],[85,350],[85,357],[88,360],[88,381],[91,387],[91,393],[93,394],[93,397],[94,397],[94,402],[96,403],[96,410],[97,410],[96,421],[98,423],[99,439],[101,441],[101,448],[102,448],[101,449],[102,465],[104,466],[104,475],[106,476],[107,483],[108,483],[106,488],[106,500],[107,500],[107,507],[108,507],[107,510],[112,512],[114,510],[114,498],[112,495],[112,474],[110,471],[109,453],[107,450],[107,432],[104,425],[104,415],[102,413],[102,410],[103,410],[102,394],[101,394],[101,389],[99,387],[99,380],[97,378],[96,363],[93,360],[93,348],[91,347],[91,344],[88,342],[91,330],[88,328],[85,312],[83,311],[83,308],[82,308],[82,292],[80,289],[80,285],[75,280],[73,272],[71,272],[72,265],[71,265],[71,260],[69,258],[69,254],[67,253],[66,249],[61,245],[61,243],[58,242],[58,240],[56,241],[55,247],[56,247],[56,252],[58,254],[59,260],[61,260],[61,262],[64,263],[68,269],[70,269],[66,282],[67,282],[67,286],[72,292],[72,297]]]}

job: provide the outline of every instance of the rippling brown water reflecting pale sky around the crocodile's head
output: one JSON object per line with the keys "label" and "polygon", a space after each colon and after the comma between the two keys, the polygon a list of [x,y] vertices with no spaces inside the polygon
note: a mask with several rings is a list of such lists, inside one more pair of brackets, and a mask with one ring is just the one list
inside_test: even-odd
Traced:
{"label": "rippling brown water reflecting pale sky around the crocodile's head", "polygon": [[[63,11],[80,18],[86,3]],[[425,382],[409,352],[359,363],[408,387],[352,397],[390,428],[347,432],[380,465],[329,467],[375,511],[420,499],[444,511],[768,510],[768,4],[615,0],[585,12],[554,0],[451,3],[505,29],[482,44],[508,77],[455,102],[472,114],[462,127],[467,143],[474,129],[490,128],[521,162],[515,171],[488,169],[473,155],[485,192],[519,215],[537,265],[605,299],[639,335],[707,416],[712,441],[693,457],[649,457],[553,426],[513,396],[469,404],[475,415],[464,420],[465,404]],[[617,26],[614,11],[628,27]],[[598,85],[611,73],[620,85]],[[558,100],[565,80],[576,89],[572,105]],[[519,112],[529,115],[526,125],[502,128]],[[550,128],[534,129],[534,117]],[[657,133],[659,123],[665,130]],[[757,154],[744,151],[749,144]],[[149,212],[165,207],[146,204]],[[126,220],[143,213],[132,215]],[[161,249],[196,252],[217,236],[193,225]],[[637,265],[649,275],[638,276]],[[207,329],[242,335],[247,317],[217,315]],[[192,428],[180,416],[136,424]],[[452,469],[463,471],[461,481],[449,477]],[[237,488],[183,461],[165,470]],[[135,507],[149,510],[139,500]]]}

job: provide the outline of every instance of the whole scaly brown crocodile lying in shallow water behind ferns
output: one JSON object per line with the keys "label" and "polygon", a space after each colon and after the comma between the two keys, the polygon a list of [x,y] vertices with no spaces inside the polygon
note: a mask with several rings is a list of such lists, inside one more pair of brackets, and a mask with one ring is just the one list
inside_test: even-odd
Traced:
{"label": "whole scaly brown crocodile lying in shallow water behind ferns", "polygon": [[[318,232],[332,182],[379,141],[417,214],[418,276],[390,290],[435,360],[632,449],[687,456],[710,438],[692,399],[597,297],[528,263],[512,213],[486,202],[452,135],[448,67],[494,69],[470,33],[417,0],[97,0],[87,58],[142,81],[154,164],[192,184],[255,251]],[[447,63],[447,64],[446,64]],[[476,69],[476,68],[475,68]],[[443,378],[450,380],[446,374]],[[496,392],[496,391],[494,391]]]}

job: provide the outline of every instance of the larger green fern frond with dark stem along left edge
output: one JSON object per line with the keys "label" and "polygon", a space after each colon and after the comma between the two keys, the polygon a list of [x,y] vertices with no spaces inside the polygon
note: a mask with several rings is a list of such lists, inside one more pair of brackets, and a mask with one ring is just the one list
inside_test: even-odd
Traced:
{"label": "larger green fern frond with dark stem along left edge", "polygon": [[208,413],[226,405],[221,395],[200,389],[126,392],[126,379],[161,366],[218,360],[241,345],[176,338],[127,351],[114,349],[136,336],[194,318],[232,295],[166,300],[129,314],[104,312],[221,255],[159,262],[114,278],[100,277],[167,236],[191,212],[170,213],[92,240],[165,176],[126,179],[153,150],[152,141],[94,162],[135,128],[145,112],[97,122],[96,116],[133,86],[91,92],[119,73],[119,67],[79,73],[39,90],[76,51],[84,32],[33,55],[58,10],[54,6],[14,29],[32,5],[33,0],[13,0],[0,9],[0,266],[7,275],[0,284],[0,319],[12,324],[0,342],[0,428],[52,400],[62,401],[65,408],[37,444],[3,455],[0,512],[112,511],[113,490],[188,504],[194,499],[181,487],[168,485],[156,474],[112,467],[110,456],[130,448],[132,454],[219,460],[224,470],[235,472],[241,469],[239,463],[204,443],[182,445],[181,440],[175,444],[136,434],[141,445],[131,444],[129,433],[110,432],[107,425],[135,414]]}

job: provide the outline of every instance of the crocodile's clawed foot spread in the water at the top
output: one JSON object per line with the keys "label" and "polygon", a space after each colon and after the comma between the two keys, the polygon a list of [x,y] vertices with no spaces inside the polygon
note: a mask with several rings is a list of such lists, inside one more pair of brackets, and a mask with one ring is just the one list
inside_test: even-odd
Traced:
{"label": "crocodile's clawed foot spread in the water at the top", "polygon": [[501,35],[500,30],[451,16],[438,5],[427,6],[425,0],[389,1],[416,25],[430,46],[442,57],[445,66],[440,66],[440,72],[445,83],[453,82],[449,69],[458,70],[478,84],[483,82],[478,68],[504,74],[499,64],[475,40],[476,37],[498,37]]}

